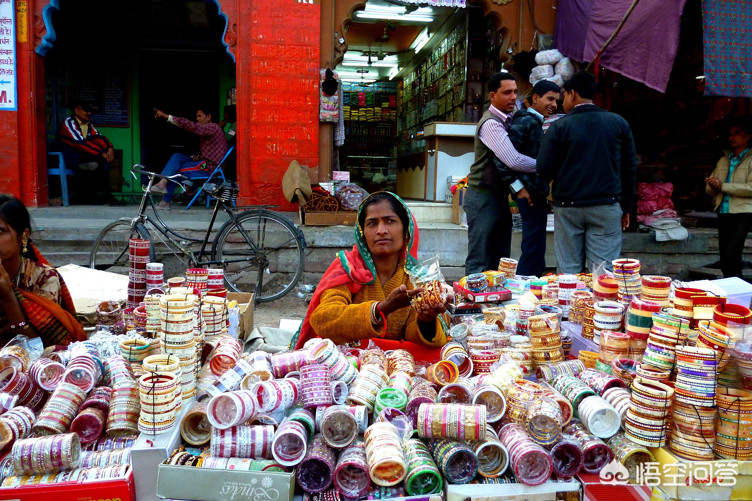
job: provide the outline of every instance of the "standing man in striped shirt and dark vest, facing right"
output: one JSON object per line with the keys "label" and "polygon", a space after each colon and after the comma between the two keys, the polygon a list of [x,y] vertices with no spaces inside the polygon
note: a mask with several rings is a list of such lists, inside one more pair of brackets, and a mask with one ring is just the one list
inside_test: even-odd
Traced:
{"label": "standing man in striped shirt and dark vest, facing right", "polygon": [[509,140],[512,111],[517,102],[517,82],[511,73],[494,73],[488,81],[491,105],[475,129],[475,162],[468,175],[464,209],[468,218],[468,257],[465,274],[499,267],[511,253],[512,216],[508,195],[531,202],[522,183],[506,184],[494,157],[518,172],[535,172],[535,159],[517,152]]}

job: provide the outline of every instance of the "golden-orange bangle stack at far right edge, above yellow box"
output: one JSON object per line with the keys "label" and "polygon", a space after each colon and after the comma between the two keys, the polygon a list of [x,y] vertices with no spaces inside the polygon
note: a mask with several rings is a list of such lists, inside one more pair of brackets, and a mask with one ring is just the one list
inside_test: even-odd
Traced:
{"label": "golden-orange bangle stack at far right edge, above yellow box", "polygon": [[752,393],[719,388],[715,395],[715,453],[724,459],[752,459]]}

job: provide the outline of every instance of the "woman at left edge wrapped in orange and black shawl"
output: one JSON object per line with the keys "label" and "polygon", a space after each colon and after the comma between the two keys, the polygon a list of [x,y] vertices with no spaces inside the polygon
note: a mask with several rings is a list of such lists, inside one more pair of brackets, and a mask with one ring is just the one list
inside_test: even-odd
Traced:
{"label": "woman at left edge wrapped in orange and black shawl", "polygon": [[31,241],[29,211],[0,195],[0,346],[23,334],[45,347],[83,341],[68,287]]}

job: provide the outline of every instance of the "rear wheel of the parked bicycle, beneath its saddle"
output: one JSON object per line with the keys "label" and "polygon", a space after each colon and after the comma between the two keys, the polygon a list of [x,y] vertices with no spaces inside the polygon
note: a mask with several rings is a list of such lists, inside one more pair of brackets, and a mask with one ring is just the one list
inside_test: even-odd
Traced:
{"label": "rear wheel of the parked bicycle, beneath its saddle", "polygon": [[235,292],[256,293],[270,302],[293,290],[303,274],[305,241],[295,225],[273,211],[247,211],[229,220],[214,238],[211,254],[223,265]]}

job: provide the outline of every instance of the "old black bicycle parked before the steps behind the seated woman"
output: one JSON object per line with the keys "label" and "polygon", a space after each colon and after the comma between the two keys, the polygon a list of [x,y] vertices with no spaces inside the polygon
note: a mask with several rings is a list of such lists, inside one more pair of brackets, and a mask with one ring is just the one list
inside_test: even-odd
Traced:
{"label": "old black bicycle parked before the steps behind the seated woman", "polygon": [[[256,302],[279,299],[298,284],[305,260],[305,237],[287,217],[269,210],[277,205],[233,207],[239,193],[237,184],[204,184],[201,189],[205,194],[217,199],[211,222],[204,238],[186,237],[175,232],[159,217],[151,188],[154,179],[177,182],[187,178],[179,174],[163,176],[144,169],[144,165],[134,165],[132,170],[134,177],[146,175],[149,178],[138,215],[132,219],[120,218],[102,229],[92,247],[90,268],[127,274],[129,240],[145,238],[150,241],[151,261],[158,261],[165,254],[174,254],[183,261],[179,255],[182,254],[188,258],[189,268],[221,266],[226,287],[235,292],[256,293]],[[156,220],[147,214],[147,204],[151,205]],[[219,229],[214,241],[211,241],[211,250],[208,250],[211,230],[220,208],[226,212],[229,220]],[[159,238],[156,246],[151,232]],[[199,250],[188,248],[193,244],[201,244],[201,247]]]}

